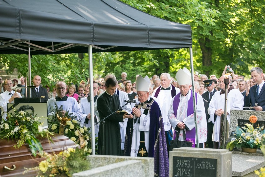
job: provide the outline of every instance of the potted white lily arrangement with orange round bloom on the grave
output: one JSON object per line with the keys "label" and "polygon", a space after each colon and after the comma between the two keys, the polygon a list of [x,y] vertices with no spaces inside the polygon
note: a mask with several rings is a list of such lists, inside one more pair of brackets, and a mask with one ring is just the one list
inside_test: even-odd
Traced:
{"label": "potted white lily arrangement with orange round bloom on the grave", "polygon": [[232,151],[235,147],[237,149],[242,148],[243,152],[252,152],[256,153],[257,148],[264,146],[265,144],[265,130],[264,126],[254,129],[253,125],[257,122],[256,116],[250,116],[249,121],[251,124],[244,124],[246,127],[237,127],[236,128],[236,140],[230,141],[226,149]]}

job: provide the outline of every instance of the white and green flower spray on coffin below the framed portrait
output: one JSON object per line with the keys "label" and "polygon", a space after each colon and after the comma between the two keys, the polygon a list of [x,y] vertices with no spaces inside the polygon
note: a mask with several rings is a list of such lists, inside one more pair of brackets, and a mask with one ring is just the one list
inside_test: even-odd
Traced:
{"label": "white and green flower spray on coffin below the framed portrait", "polygon": [[51,136],[54,136],[52,132],[44,129],[42,123],[39,122],[44,117],[36,117],[36,115],[33,116],[24,111],[18,112],[16,109],[14,112],[14,114],[7,114],[7,120],[4,120],[0,125],[0,139],[9,140],[11,138],[12,141],[15,139],[17,142],[15,148],[28,143],[34,157],[36,157],[37,151],[43,154],[42,145],[36,136],[47,137],[50,141],[52,141]]}

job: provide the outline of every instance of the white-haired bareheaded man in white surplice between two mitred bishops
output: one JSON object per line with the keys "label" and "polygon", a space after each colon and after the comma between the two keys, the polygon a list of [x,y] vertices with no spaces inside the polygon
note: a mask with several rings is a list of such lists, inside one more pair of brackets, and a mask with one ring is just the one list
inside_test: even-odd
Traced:
{"label": "white-haired bareheaded man in white surplice between two mitred bishops", "polygon": [[168,120],[167,114],[170,108],[170,103],[171,103],[172,98],[176,96],[180,92],[180,90],[179,88],[176,88],[172,84],[170,84],[171,76],[168,73],[162,73],[160,75],[160,82],[161,82],[161,85],[154,90],[153,97],[157,98],[158,104],[160,105],[160,108],[161,108],[163,122],[164,122],[165,135],[166,135],[166,140],[167,140],[167,147],[169,151],[169,140],[168,140],[169,132],[168,131],[171,129],[171,125]]}

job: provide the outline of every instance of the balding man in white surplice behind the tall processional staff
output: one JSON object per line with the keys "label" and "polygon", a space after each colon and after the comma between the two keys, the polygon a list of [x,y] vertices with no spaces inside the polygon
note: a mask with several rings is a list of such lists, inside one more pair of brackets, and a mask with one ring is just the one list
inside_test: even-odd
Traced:
{"label": "balding man in white surplice behind the tall processional staff", "polygon": [[[230,123],[230,110],[237,109],[243,110],[244,97],[238,89],[230,86],[231,80],[229,79],[229,84],[227,85],[227,111],[225,110],[225,76],[221,76],[219,79],[220,91],[215,92],[212,96],[208,112],[210,114],[210,120],[214,124],[212,140],[219,141],[220,136],[220,120],[221,115],[225,114],[228,122]],[[215,143],[216,148],[217,143]]]}

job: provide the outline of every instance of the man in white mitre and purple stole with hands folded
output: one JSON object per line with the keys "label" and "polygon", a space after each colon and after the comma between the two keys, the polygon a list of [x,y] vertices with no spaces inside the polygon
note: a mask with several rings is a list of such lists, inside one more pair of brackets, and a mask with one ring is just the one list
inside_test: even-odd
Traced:
{"label": "man in white mitre and purple stole with hands folded", "polygon": [[[192,147],[195,147],[196,136],[198,136],[199,147],[203,147],[203,143],[207,140],[207,122],[205,108],[202,96],[195,93],[196,108],[197,108],[197,135],[194,123],[193,110],[193,93],[190,84],[191,73],[187,68],[179,69],[176,74],[176,79],[179,83],[180,93],[172,98],[170,110],[168,112],[169,121],[174,128],[174,138],[179,135],[181,141],[192,142]],[[186,135],[186,137],[184,137]]]}

